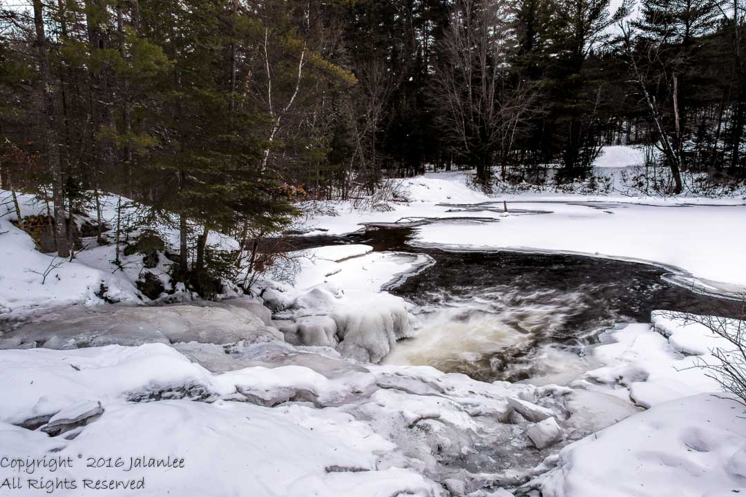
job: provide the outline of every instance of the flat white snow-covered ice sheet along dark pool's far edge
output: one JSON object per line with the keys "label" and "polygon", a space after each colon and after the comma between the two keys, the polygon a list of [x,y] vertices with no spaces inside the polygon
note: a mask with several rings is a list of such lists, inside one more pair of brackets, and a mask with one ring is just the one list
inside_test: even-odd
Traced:
{"label": "flat white snow-covered ice sheet along dark pool's far edge", "polygon": [[560,251],[654,262],[692,273],[724,291],[732,285],[746,286],[746,264],[733,264],[746,247],[746,230],[734,228],[746,226],[744,206],[513,202],[510,207],[539,205],[551,214],[509,215],[487,227],[428,224],[419,227],[416,243],[455,250]]}

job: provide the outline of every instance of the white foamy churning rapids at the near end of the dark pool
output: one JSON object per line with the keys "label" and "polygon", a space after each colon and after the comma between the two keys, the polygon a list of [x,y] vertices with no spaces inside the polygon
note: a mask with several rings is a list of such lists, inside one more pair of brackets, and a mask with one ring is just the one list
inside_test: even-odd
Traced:
{"label": "white foamy churning rapids at the near end of the dark pool", "polygon": [[417,335],[399,341],[384,364],[432,366],[479,379],[520,378],[536,384],[570,382],[589,367],[577,346],[551,342],[586,308],[579,293],[521,294],[499,288],[433,297],[436,304],[416,311]]}

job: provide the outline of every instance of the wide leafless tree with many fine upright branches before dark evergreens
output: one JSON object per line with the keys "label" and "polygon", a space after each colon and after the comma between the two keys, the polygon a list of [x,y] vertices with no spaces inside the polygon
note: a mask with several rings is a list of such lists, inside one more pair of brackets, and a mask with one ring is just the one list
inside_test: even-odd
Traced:
{"label": "wide leafless tree with many fine upright branches before dark evergreens", "polygon": [[435,76],[439,124],[451,136],[454,155],[477,169],[487,186],[495,154],[512,151],[515,136],[535,100],[533,86],[508,85],[511,4],[505,0],[456,0],[442,41]]}

